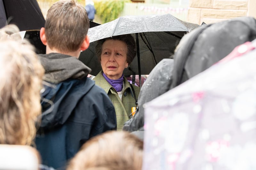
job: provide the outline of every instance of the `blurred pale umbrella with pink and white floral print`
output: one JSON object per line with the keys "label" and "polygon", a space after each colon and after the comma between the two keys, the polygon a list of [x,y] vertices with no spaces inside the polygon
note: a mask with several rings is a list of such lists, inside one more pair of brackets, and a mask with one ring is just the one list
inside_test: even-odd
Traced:
{"label": "blurred pale umbrella with pink and white floral print", "polygon": [[144,105],[143,170],[256,169],[255,45]]}

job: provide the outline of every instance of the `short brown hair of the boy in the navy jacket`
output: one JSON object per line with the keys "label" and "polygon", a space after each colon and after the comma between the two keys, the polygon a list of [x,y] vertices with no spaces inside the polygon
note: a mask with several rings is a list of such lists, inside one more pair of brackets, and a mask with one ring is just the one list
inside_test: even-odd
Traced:
{"label": "short brown hair of the boy in the navy jacket", "polygon": [[74,0],[57,1],[46,15],[45,37],[48,46],[63,52],[78,50],[87,35],[89,22],[82,5]]}

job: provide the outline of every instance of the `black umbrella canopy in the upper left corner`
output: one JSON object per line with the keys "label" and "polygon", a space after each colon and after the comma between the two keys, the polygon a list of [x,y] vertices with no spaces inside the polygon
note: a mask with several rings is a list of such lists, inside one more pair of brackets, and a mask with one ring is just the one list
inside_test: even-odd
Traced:
{"label": "black umbrella canopy in the upper left corner", "polygon": [[36,0],[0,0],[0,28],[15,24],[20,31],[44,27],[45,19]]}

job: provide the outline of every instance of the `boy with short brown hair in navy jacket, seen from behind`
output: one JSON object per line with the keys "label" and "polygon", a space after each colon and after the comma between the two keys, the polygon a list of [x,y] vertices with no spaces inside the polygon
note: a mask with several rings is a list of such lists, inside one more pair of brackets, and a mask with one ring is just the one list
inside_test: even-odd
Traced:
{"label": "boy with short brown hair in navy jacket, seen from behind", "polygon": [[89,47],[89,19],[73,0],[58,1],[47,12],[40,38],[46,54],[42,122],[36,136],[43,163],[65,168],[91,137],[116,129],[116,114],[107,94],[87,78],[91,69],[78,60]]}

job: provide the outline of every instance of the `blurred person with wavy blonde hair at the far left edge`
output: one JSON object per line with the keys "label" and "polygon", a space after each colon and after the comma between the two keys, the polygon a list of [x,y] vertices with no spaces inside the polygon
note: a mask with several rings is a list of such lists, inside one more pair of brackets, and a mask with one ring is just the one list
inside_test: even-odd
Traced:
{"label": "blurred person with wavy blonde hair at the far left edge", "polygon": [[0,169],[50,170],[33,145],[44,69],[19,28],[0,29]]}

